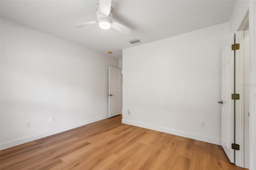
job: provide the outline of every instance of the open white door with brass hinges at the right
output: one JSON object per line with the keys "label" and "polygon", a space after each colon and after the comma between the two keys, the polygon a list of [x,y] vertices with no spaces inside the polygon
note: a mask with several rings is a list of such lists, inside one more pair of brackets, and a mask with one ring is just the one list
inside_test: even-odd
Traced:
{"label": "open white door with brass hinges at the right", "polygon": [[[234,42],[234,34],[231,34],[231,44]],[[222,76],[221,76],[221,145],[230,162],[234,163],[234,101],[231,94],[234,93],[234,51],[231,45],[222,50]]]}

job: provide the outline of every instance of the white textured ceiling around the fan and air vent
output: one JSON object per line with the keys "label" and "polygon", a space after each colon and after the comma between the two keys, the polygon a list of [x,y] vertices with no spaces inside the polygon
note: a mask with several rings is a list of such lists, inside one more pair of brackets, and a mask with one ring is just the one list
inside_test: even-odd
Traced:
{"label": "white textured ceiling around the fan and air vent", "polygon": [[[122,49],[168,38],[229,21],[233,0],[112,0],[113,21],[131,29],[122,34],[98,25],[75,28],[96,20],[98,0],[1,0],[1,16],[54,36],[95,49],[112,51],[122,58]],[[141,43],[128,41],[138,38]]]}

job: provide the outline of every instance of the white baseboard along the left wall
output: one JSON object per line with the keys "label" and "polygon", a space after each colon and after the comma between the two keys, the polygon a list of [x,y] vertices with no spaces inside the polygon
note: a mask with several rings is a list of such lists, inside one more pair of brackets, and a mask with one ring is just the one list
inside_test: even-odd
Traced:
{"label": "white baseboard along the left wall", "polygon": [[45,131],[45,132],[32,134],[30,136],[24,136],[22,138],[16,138],[14,140],[9,140],[9,141],[6,141],[6,142],[2,142],[2,143],[0,143],[0,150],[10,148],[10,147],[13,147],[13,146],[17,146],[17,145],[20,145],[20,144],[24,144],[26,142],[31,142],[33,140],[44,138],[46,136],[50,136],[50,135],[53,135],[53,134],[64,132],[66,130],[70,130],[70,129],[77,128],[77,127],[80,127],[80,126],[84,126],[84,125],[94,123],[96,121],[100,121],[100,120],[107,119],[107,118],[108,118],[108,115],[104,115],[104,116],[96,117],[96,118],[89,119],[89,120],[86,120],[86,121],[81,121],[81,122],[78,122],[78,123],[74,123],[72,125],[67,125],[67,126],[55,128],[55,129],[52,129],[52,130],[48,130],[48,131]]}

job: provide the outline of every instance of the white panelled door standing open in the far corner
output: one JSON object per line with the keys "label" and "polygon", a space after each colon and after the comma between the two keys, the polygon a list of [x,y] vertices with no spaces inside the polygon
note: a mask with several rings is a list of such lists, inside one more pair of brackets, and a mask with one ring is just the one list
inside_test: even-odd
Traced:
{"label": "white panelled door standing open in the far corner", "polygon": [[121,69],[109,67],[108,117],[121,114]]}

